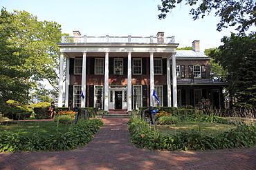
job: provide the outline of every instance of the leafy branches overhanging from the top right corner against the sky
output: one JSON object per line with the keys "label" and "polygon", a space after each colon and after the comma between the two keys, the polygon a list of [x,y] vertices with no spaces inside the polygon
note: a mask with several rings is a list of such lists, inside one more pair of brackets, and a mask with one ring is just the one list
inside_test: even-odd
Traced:
{"label": "leafy branches overhanging from the top right corner against the sky", "polygon": [[210,14],[212,10],[215,11],[215,16],[219,16],[221,19],[217,24],[217,30],[221,31],[223,28],[237,26],[236,30],[239,32],[245,32],[251,25],[256,25],[256,3],[254,0],[161,0],[162,4],[158,5],[158,10],[161,10],[161,14],[158,15],[158,19],[165,19],[167,13],[173,8],[176,8],[178,4],[185,2],[185,5],[196,6],[192,8],[190,14],[196,20],[204,18],[205,15]]}

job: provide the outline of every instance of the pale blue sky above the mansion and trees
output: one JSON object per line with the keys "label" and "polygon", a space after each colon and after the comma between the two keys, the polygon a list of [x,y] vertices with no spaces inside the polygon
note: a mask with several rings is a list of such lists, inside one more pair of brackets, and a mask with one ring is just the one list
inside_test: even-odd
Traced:
{"label": "pale blue sky above the mansion and trees", "polygon": [[[219,47],[221,38],[230,36],[235,28],[216,29],[219,17],[214,13],[193,21],[190,6],[177,6],[166,19],[159,20],[157,5],[161,0],[0,0],[8,12],[25,10],[38,21],[55,21],[62,33],[73,35],[79,30],[87,36],[175,36],[179,47],[192,46],[200,40],[200,50]],[[253,28],[256,30],[255,28]]]}

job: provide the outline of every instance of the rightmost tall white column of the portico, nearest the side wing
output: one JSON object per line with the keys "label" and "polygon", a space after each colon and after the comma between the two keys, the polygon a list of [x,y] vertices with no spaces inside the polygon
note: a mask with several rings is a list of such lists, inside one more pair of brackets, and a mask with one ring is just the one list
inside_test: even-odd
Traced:
{"label": "rightmost tall white column of the portico, nearest the side wing", "polygon": [[175,54],[172,54],[172,98],[173,98],[173,107],[178,107],[178,103],[177,103],[176,56],[175,56]]}

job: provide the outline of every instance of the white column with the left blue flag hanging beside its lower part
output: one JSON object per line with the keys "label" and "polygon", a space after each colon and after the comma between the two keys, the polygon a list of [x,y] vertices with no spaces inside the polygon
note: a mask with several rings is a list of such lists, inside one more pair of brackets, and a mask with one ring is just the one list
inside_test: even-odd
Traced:
{"label": "white column with the left blue flag hanging beside its lower part", "polygon": [[82,54],[82,87],[81,90],[84,94],[84,98],[81,97],[81,107],[85,107],[86,100],[86,52]]}

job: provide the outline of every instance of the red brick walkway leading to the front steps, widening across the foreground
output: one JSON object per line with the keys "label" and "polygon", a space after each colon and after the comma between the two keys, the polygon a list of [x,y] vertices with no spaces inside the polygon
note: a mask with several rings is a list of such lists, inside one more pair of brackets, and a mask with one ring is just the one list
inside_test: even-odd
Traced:
{"label": "red brick walkway leading to the front steps, widening across the foreground", "polygon": [[256,169],[256,147],[218,151],[147,151],[131,144],[128,118],[102,120],[104,127],[80,149],[0,153],[0,169]]}

